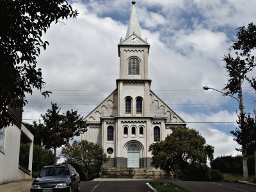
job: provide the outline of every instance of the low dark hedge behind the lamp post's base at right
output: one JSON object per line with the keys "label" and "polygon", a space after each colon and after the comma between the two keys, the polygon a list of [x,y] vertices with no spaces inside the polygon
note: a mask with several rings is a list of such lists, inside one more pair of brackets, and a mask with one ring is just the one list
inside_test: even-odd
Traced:
{"label": "low dark hedge behind the lamp post's base at right", "polygon": [[[249,156],[248,159],[248,173],[254,173],[254,157]],[[237,173],[243,174],[243,157],[242,156],[221,156],[216,157],[211,162],[211,168],[220,170],[221,173]]]}

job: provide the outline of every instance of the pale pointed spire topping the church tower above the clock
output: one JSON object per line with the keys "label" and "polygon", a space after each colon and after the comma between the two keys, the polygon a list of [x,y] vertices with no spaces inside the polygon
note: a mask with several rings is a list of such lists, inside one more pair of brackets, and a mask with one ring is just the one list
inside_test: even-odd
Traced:
{"label": "pale pointed spire topping the church tower above the clock", "polygon": [[136,33],[136,35],[141,37],[140,24],[139,24],[137,13],[136,13],[135,3],[136,1],[132,1],[132,11],[131,11],[131,16],[130,16],[129,25],[128,25],[125,38],[132,35],[132,33]]}

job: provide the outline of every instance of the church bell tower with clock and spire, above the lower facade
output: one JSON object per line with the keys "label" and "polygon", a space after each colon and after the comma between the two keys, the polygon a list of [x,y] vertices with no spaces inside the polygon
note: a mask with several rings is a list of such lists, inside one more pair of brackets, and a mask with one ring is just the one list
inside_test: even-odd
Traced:
{"label": "church bell tower with clock and spire, above the lower facade", "polygon": [[116,79],[118,116],[148,116],[149,114],[148,95],[151,80],[148,79],[148,51],[150,45],[147,38],[141,37],[135,4],[136,2],[132,1],[127,33],[118,44],[120,58],[120,79]]}

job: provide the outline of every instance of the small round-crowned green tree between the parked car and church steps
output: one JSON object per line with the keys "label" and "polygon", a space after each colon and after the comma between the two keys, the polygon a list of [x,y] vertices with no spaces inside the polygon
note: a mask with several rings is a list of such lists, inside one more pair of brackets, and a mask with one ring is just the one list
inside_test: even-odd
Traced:
{"label": "small round-crowned green tree between the parked car and church steps", "polygon": [[68,162],[78,163],[83,168],[87,180],[89,179],[90,164],[95,164],[101,168],[102,164],[108,161],[103,148],[86,140],[74,141],[72,145],[63,147],[61,156],[65,157]]}

